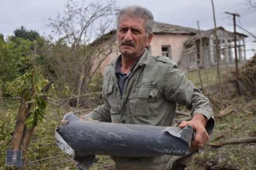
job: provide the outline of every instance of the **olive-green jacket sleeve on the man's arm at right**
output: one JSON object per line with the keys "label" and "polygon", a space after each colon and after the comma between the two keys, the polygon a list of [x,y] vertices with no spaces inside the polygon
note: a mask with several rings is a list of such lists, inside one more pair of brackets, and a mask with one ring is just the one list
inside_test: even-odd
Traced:
{"label": "olive-green jacket sleeve on the man's arm at right", "polygon": [[191,110],[191,116],[202,114],[207,118],[206,130],[209,134],[214,128],[214,117],[209,99],[202,92],[195,88],[191,81],[187,79],[183,71],[177,69],[177,65],[168,67],[164,82],[163,93],[170,101],[179,105],[185,105]]}

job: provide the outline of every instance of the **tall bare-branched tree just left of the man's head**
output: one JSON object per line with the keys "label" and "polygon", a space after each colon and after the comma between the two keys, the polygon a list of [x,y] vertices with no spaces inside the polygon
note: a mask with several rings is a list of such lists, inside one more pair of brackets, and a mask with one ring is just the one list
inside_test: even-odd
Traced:
{"label": "tall bare-branched tree just left of the man's head", "polygon": [[68,1],[62,16],[50,20],[59,40],[52,45],[49,60],[61,84],[66,83],[78,96],[77,107],[79,96],[88,91],[88,83],[95,73],[91,70],[93,61],[99,55],[105,59],[112,52],[112,43],[103,45],[104,38],[100,37],[113,28],[115,12],[113,1],[107,4]]}

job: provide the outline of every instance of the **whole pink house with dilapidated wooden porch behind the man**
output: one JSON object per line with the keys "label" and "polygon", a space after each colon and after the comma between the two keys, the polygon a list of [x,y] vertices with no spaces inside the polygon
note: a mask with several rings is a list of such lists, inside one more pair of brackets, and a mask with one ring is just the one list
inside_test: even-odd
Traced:
{"label": "whole pink house with dilapidated wooden porch behind the man", "polygon": [[[216,38],[214,29],[200,31],[194,28],[170,25],[167,23],[155,22],[153,28],[153,40],[148,47],[152,55],[165,55],[178,64],[183,71],[197,69],[199,67],[214,67],[217,64],[215,56]],[[221,64],[235,64],[234,33],[225,30],[223,27],[217,28],[219,59]],[[108,57],[101,59],[99,56],[95,60],[95,66],[100,64],[100,71],[118,55],[117,38],[115,30],[107,34],[108,38],[104,44],[112,43],[112,53]],[[105,35],[106,36],[106,35]],[[237,53],[239,62],[244,62],[245,38],[247,35],[236,33]],[[200,40],[202,40],[202,57],[200,57]]]}

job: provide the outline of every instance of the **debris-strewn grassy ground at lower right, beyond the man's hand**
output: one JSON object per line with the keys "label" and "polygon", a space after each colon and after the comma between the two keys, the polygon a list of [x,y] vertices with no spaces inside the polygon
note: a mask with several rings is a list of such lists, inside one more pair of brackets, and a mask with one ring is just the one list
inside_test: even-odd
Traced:
{"label": "debris-strewn grassy ground at lower right, beyond the man's hand", "polygon": [[[214,139],[210,143],[221,143],[225,140],[248,137],[256,134],[256,99],[236,97],[231,100],[236,110],[216,120]],[[230,144],[222,147],[206,145],[200,154],[194,154],[186,169],[209,168],[210,166],[226,166],[226,168],[256,169],[256,143]]]}

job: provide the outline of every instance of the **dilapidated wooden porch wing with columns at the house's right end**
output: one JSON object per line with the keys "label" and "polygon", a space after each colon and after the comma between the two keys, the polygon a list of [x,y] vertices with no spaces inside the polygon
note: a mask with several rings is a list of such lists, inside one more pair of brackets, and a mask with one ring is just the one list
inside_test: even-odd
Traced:
{"label": "dilapidated wooden porch wing with columns at the house's right end", "polygon": [[[219,58],[220,65],[235,64],[235,40],[234,33],[225,30],[223,27],[218,27],[217,40],[214,29],[201,31],[193,37],[190,37],[184,43],[184,49],[178,64],[184,70],[197,68],[212,67],[217,64],[216,56]],[[238,63],[243,63],[246,60],[245,54],[245,38],[247,35],[236,33],[236,51]],[[216,53],[216,45],[218,51]],[[202,52],[200,54],[200,50]]]}

